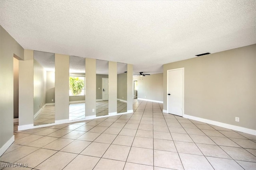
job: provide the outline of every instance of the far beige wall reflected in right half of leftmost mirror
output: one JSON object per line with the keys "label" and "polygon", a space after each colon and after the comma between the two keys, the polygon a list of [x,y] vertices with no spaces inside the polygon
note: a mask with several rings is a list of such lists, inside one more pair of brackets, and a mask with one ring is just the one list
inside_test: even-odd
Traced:
{"label": "far beige wall reflected in right half of leftmost mirror", "polygon": [[55,102],[55,72],[46,71],[46,103],[54,103],[54,102]]}

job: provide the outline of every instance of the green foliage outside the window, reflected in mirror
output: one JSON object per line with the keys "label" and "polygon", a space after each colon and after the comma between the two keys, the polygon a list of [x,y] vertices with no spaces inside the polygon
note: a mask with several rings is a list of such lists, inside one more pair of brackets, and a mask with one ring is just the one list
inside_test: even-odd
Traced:
{"label": "green foliage outside the window, reflected in mirror", "polygon": [[81,94],[83,88],[84,80],[81,80],[78,77],[69,77],[69,89],[74,96]]}

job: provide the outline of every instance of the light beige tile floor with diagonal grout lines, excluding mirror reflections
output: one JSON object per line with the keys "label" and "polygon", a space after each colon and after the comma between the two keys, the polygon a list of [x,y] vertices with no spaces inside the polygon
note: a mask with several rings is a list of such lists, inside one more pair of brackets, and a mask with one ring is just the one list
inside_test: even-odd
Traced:
{"label": "light beige tile floor with diagonal grout lines, excluding mirror reflections", "polygon": [[26,131],[14,125],[15,141],[0,163],[27,163],[24,170],[256,169],[256,136],[162,113],[158,103],[134,100],[133,107]]}

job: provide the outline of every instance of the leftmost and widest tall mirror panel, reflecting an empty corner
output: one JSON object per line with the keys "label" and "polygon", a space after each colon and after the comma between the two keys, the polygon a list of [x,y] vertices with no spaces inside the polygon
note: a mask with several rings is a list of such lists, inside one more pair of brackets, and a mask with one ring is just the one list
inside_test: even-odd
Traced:
{"label": "leftmost and widest tall mirror panel, reflecting an empty corner", "polygon": [[34,51],[34,126],[55,122],[54,53]]}

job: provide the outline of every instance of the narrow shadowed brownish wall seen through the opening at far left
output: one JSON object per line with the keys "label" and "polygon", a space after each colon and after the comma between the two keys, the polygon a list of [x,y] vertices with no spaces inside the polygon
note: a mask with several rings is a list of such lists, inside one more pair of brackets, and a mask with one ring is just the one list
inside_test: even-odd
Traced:
{"label": "narrow shadowed brownish wall seen through the opening at far left", "polygon": [[13,58],[13,118],[19,117],[19,61]]}

